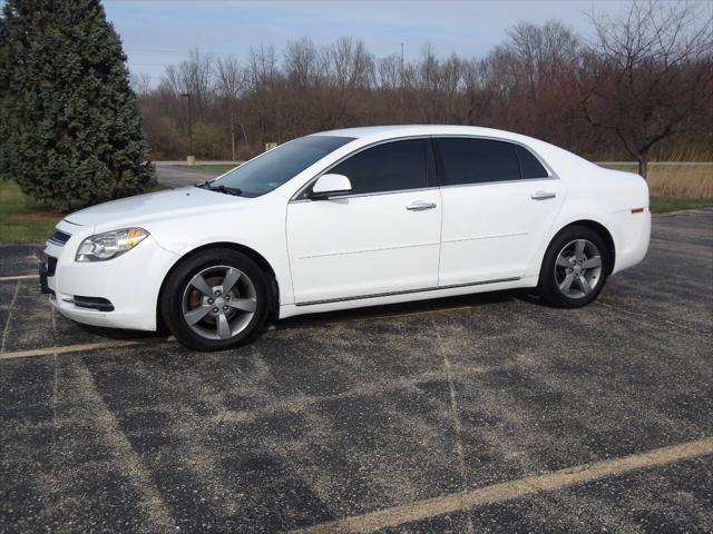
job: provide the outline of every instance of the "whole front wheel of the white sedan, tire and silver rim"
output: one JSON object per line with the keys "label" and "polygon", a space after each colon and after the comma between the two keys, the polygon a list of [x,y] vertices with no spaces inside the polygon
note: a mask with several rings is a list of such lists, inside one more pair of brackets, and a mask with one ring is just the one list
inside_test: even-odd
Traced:
{"label": "whole front wheel of the white sedan, tire and silver rim", "polygon": [[176,339],[206,352],[252,342],[270,309],[267,276],[250,257],[229,248],[207,249],[178,264],[160,299],[162,317]]}

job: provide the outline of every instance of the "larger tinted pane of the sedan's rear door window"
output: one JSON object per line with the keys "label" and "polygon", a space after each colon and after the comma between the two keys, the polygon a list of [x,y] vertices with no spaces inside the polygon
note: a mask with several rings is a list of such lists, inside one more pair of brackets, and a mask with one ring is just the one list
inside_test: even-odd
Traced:
{"label": "larger tinted pane of the sedan's rear door window", "polygon": [[434,138],[447,186],[519,180],[516,145],[491,139]]}

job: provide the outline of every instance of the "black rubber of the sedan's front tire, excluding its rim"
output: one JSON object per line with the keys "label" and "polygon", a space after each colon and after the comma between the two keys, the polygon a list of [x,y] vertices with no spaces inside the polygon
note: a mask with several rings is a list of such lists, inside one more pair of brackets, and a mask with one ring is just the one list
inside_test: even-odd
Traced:
{"label": "black rubber of the sedan's front tire, excluding its rim", "polygon": [[[182,312],[184,290],[191,279],[206,267],[228,265],[250,277],[255,286],[257,306],[251,323],[231,339],[206,339],[186,324]],[[183,260],[169,275],[162,295],[162,316],[179,343],[196,350],[225,350],[244,345],[256,337],[271,308],[270,284],[263,270],[248,256],[229,248],[214,248]]]}

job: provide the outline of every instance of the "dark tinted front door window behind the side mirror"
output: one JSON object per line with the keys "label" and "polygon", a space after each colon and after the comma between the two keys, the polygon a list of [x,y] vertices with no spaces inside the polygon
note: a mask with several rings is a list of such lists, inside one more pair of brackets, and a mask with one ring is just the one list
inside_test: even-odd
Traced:
{"label": "dark tinted front door window behind the side mirror", "polygon": [[410,139],[379,145],[342,161],[330,172],[344,175],[353,194],[426,187],[426,141]]}

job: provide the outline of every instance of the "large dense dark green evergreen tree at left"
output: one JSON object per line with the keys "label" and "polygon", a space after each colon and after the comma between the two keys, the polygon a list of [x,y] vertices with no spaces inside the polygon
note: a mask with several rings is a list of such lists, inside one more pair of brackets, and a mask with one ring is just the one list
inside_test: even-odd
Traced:
{"label": "large dense dark green evergreen tree at left", "polygon": [[58,207],[154,184],[121,41],[98,0],[7,0],[0,177]]}

